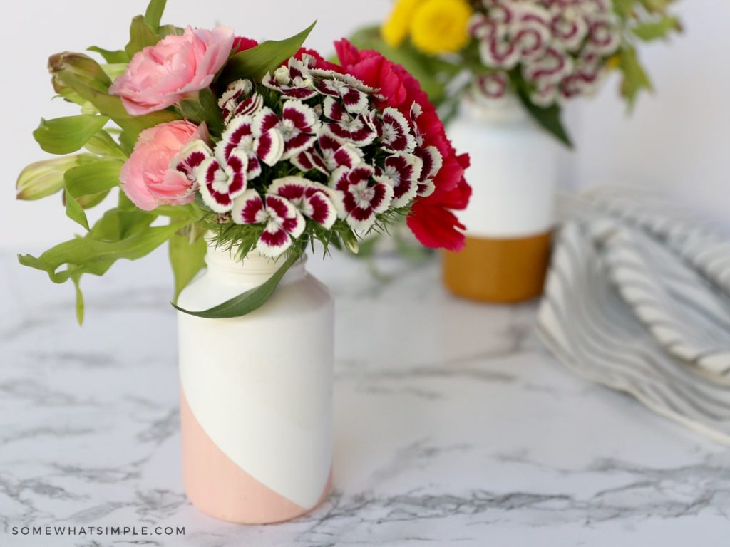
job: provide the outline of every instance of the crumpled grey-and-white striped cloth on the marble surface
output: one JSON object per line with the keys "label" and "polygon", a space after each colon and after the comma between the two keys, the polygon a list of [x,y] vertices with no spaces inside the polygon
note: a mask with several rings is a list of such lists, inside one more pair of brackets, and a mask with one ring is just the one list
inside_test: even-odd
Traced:
{"label": "crumpled grey-and-white striped cloth on the marble surface", "polygon": [[565,204],[542,341],[572,371],[730,443],[730,242],[653,193]]}

